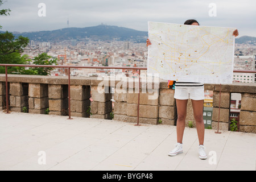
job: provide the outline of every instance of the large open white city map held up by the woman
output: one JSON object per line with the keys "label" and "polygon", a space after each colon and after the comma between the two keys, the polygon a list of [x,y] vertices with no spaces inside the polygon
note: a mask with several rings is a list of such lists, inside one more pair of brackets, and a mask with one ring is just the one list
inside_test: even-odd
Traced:
{"label": "large open white city map held up by the woman", "polygon": [[148,22],[148,73],[164,80],[232,84],[236,28]]}

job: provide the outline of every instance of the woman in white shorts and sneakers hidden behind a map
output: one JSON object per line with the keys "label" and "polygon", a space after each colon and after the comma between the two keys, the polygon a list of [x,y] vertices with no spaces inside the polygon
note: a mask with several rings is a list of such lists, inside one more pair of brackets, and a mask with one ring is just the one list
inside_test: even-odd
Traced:
{"label": "woman in white shorts and sneakers hidden behind a map", "polygon": [[[189,19],[184,24],[199,26],[197,20]],[[234,36],[238,36],[238,31],[233,32]],[[147,46],[150,46],[151,42],[147,39]],[[169,152],[169,156],[175,156],[183,152],[182,140],[185,129],[185,118],[187,115],[187,103],[188,99],[191,99],[193,106],[193,114],[196,121],[197,135],[199,138],[199,158],[207,159],[207,154],[204,147],[204,120],[203,120],[203,109],[204,109],[204,84],[196,82],[179,82],[175,84],[175,94],[177,106],[177,144],[174,150]]]}

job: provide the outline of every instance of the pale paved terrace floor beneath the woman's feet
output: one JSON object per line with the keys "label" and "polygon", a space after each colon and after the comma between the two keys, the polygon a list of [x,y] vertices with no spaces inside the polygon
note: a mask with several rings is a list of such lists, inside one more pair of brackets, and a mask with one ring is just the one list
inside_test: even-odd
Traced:
{"label": "pale paved terrace floor beneath the woman's feet", "polygon": [[170,157],[176,126],[67,118],[0,111],[0,170],[255,171],[256,134],[205,130],[210,156],[200,160],[196,129],[186,127],[184,153]]}

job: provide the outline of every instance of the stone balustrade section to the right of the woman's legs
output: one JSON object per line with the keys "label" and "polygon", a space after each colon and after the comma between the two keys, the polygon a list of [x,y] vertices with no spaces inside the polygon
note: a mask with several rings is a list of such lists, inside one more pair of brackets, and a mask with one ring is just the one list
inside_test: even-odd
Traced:
{"label": "stone balustrade section to the right of the woman's legs", "polygon": [[[221,102],[220,102],[221,90]],[[215,85],[213,90],[213,129],[218,125],[220,103],[220,130],[229,130],[229,110],[231,93],[241,93],[240,131],[256,133],[256,84],[234,83]]]}

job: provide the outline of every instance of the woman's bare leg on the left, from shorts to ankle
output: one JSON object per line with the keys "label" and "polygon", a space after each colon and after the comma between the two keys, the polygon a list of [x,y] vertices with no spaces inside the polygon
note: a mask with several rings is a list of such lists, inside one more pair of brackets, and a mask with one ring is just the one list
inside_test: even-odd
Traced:
{"label": "woman's bare leg on the left, from shorts to ankle", "polygon": [[177,106],[177,143],[182,143],[183,134],[185,129],[185,119],[187,115],[187,104],[188,100],[177,100],[176,99],[176,106]]}

